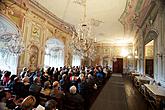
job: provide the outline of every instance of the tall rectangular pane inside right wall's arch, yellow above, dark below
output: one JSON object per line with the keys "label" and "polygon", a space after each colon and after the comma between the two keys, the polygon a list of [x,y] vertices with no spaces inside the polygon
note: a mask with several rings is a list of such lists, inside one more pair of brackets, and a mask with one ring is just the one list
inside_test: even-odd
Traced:
{"label": "tall rectangular pane inside right wall's arch, yellow above, dark below", "polygon": [[145,74],[154,77],[154,40],[145,45]]}

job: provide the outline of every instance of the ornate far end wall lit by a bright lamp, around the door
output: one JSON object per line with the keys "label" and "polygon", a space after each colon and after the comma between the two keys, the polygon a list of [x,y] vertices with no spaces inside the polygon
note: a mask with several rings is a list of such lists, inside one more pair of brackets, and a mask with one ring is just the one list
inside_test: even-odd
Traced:
{"label": "ornate far end wall lit by a bright lamp, around the door", "polygon": [[93,64],[102,64],[113,68],[117,58],[123,59],[123,72],[132,71],[133,68],[133,46],[102,43],[97,45],[97,56]]}

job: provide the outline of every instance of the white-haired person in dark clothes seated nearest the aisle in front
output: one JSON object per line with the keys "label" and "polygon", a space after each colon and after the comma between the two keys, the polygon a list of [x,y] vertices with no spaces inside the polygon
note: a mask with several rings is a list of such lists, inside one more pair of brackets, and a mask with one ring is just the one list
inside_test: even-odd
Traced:
{"label": "white-haired person in dark clothes seated nearest the aisle in front", "polygon": [[64,110],[84,110],[84,99],[74,85],[70,87],[70,93],[65,95]]}

